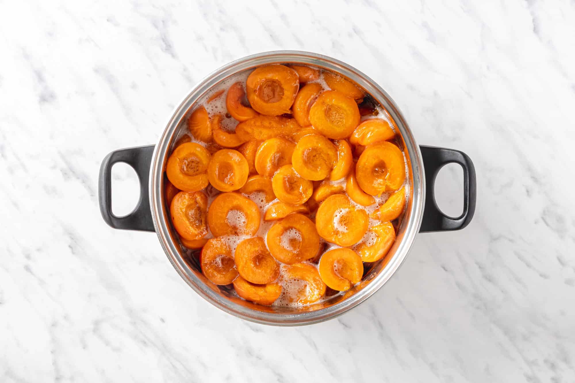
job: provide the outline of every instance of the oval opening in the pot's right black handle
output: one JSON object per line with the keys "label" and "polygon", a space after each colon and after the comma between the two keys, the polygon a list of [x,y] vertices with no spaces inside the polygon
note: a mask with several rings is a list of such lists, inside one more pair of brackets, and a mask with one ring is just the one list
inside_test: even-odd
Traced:
{"label": "oval opening in the pot's right black handle", "polygon": [[440,168],[434,185],[435,203],[442,213],[455,218],[463,214],[463,168],[448,163]]}

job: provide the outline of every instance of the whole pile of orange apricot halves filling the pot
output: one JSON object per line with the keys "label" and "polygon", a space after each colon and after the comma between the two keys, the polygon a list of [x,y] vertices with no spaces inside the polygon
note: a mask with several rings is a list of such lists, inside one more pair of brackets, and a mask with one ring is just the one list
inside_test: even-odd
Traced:
{"label": "whole pile of orange apricot halves filling the pot", "polygon": [[[405,206],[405,160],[390,142],[392,118],[362,110],[364,97],[333,72],[274,64],[227,89],[226,114],[203,105],[191,113],[194,140],[183,136],[168,158],[166,198],[182,245],[202,249],[209,281],[271,305],[293,279],[300,288],[287,304],[310,304],[326,285],[350,289],[363,262],[384,258]],[[226,118],[235,131],[222,127]],[[217,194],[209,206],[206,193]],[[254,195],[264,196],[263,217]],[[267,233],[262,218],[273,221]],[[232,236],[245,239],[236,246]]]}

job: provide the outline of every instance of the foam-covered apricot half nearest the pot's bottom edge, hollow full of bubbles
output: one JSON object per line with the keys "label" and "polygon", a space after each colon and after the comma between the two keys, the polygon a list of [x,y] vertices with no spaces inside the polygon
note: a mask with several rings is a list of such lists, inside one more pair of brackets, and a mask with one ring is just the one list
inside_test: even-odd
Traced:
{"label": "foam-covered apricot half nearest the pot's bottom edge, hollow full of bubbles", "polygon": [[[286,300],[290,303],[310,304],[317,302],[325,294],[325,283],[321,280],[316,267],[310,263],[302,262],[284,266],[283,278],[286,288],[289,289],[284,290],[287,295]],[[298,284],[298,281],[303,282],[303,285]]]}

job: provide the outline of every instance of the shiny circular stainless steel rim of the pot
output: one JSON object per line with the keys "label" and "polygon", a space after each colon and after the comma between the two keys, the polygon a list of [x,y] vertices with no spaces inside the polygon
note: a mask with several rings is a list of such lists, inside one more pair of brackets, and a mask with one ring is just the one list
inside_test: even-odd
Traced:
{"label": "shiny circular stainless steel rim of the pot", "polygon": [[[389,114],[396,122],[404,141],[404,150],[407,151],[408,154],[408,164],[411,164],[410,181],[412,183],[412,188],[410,196],[411,202],[409,202],[408,209],[406,211],[408,220],[402,232],[403,235],[401,242],[396,247],[396,250],[389,262],[382,270],[379,270],[378,274],[371,279],[365,288],[355,292],[348,298],[344,298],[341,301],[330,305],[329,307],[317,309],[316,311],[274,313],[250,309],[225,298],[206,285],[204,281],[197,277],[194,271],[191,271],[190,267],[180,255],[176,247],[177,244],[174,243],[170,234],[167,217],[162,208],[162,187],[163,173],[167,160],[166,156],[170,148],[171,139],[183,118],[186,117],[188,110],[190,110],[191,106],[194,105],[198,98],[204,95],[212,86],[237,72],[264,64],[290,62],[309,64],[339,72],[362,86],[363,89],[370,93],[382,106],[384,106],[385,109],[388,110]],[[150,168],[149,187],[150,206],[156,234],[158,235],[158,239],[160,240],[160,244],[162,244],[164,252],[166,252],[168,259],[174,266],[174,269],[178,271],[178,274],[187,282],[187,284],[202,298],[229,314],[255,323],[278,326],[312,324],[333,319],[342,315],[344,312],[347,312],[351,308],[354,308],[373,295],[389,280],[407,257],[413,241],[415,240],[415,236],[419,232],[425,201],[425,178],[419,145],[416,144],[415,138],[413,137],[407,122],[393,99],[389,97],[385,90],[377,85],[377,83],[356,68],[329,56],[303,51],[270,51],[246,56],[218,68],[194,86],[182,100],[181,104],[174,109],[158,144],[156,144],[154,154],[152,156],[152,166]],[[411,208],[409,208],[409,206],[411,206]]]}

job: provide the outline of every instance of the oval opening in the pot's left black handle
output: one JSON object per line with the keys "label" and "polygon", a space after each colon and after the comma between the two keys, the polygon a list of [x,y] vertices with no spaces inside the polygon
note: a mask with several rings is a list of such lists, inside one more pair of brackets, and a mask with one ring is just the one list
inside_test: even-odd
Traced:
{"label": "oval opening in the pot's left black handle", "polygon": [[116,217],[127,216],[140,200],[140,179],[127,163],[112,166],[112,213]]}

